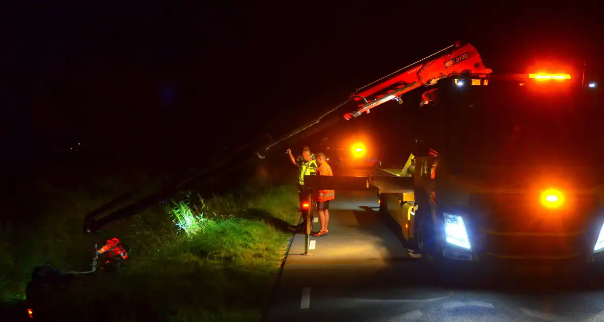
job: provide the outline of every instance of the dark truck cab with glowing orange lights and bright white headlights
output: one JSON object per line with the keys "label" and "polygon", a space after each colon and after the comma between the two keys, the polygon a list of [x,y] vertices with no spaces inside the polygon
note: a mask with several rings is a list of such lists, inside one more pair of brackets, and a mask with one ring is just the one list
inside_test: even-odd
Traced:
{"label": "dark truck cab with glowing orange lights and bright white headlights", "polygon": [[440,81],[399,188],[379,189],[381,211],[431,262],[604,261],[604,106],[588,84]]}

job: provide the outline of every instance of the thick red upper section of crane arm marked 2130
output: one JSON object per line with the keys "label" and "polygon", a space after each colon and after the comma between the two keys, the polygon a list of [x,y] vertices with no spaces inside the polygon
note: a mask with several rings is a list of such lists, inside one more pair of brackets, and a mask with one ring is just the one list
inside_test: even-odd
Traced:
{"label": "thick red upper section of crane arm marked 2130", "polygon": [[362,104],[359,109],[346,113],[344,118],[348,120],[363,112],[369,113],[373,107],[391,99],[400,100],[400,96],[422,85],[431,86],[443,78],[466,71],[474,74],[491,73],[474,46],[469,43],[460,46],[456,43],[357,90],[351,98]]}

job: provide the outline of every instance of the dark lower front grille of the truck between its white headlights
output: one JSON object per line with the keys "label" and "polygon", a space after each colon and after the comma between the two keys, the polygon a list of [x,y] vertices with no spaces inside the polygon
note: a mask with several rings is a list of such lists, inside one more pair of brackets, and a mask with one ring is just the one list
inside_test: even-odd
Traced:
{"label": "dark lower front grille of the truck between its white headlights", "polygon": [[563,209],[546,210],[525,194],[471,195],[468,205],[481,253],[548,259],[583,253],[598,199],[576,195],[567,200]]}

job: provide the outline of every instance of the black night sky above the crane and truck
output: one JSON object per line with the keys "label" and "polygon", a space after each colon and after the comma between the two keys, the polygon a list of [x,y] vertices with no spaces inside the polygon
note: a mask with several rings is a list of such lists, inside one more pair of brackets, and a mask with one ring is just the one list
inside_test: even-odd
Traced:
{"label": "black night sky above the crane and truck", "polygon": [[456,39],[495,71],[546,53],[586,57],[596,70],[603,57],[593,7],[34,3],[2,10],[10,145],[241,144],[297,127]]}

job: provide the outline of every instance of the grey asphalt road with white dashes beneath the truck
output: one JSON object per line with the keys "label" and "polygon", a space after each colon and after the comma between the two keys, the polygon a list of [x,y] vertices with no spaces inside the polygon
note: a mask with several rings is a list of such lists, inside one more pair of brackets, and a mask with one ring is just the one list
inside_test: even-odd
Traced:
{"label": "grey asphalt road with white dashes beneath the truck", "polygon": [[377,206],[374,192],[336,191],[330,235],[308,256],[296,235],[266,321],[604,321],[601,281],[435,277]]}

